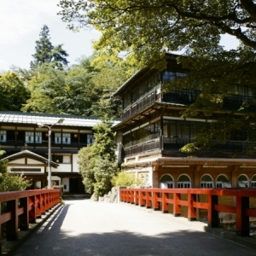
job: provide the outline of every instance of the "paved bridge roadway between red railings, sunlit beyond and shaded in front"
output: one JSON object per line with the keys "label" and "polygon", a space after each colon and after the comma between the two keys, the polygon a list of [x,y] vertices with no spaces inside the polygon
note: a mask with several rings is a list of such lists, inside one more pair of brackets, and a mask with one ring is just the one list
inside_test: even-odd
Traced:
{"label": "paved bridge roadway between red railings, sunlit beyond and shaded in front", "polygon": [[256,255],[203,225],[125,203],[66,201],[14,255]]}

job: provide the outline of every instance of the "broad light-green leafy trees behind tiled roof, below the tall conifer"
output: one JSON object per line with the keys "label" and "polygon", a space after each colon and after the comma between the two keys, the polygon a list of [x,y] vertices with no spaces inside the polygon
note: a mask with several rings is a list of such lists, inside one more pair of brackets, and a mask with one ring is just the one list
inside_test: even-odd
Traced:
{"label": "broad light-green leafy trees behind tiled roof, below the tall conifer", "polygon": [[111,95],[125,81],[125,70],[109,64],[96,67],[95,58],[95,55],[83,58],[67,70],[55,69],[49,63],[37,67],[26,79],[31,97],[21,110],[119,116],[120,102]]}

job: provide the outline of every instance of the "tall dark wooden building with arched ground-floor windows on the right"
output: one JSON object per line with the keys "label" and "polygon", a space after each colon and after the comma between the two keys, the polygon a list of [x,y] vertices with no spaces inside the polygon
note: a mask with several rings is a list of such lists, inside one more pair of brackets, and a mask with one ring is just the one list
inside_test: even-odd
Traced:
{"label": "tall dark wooden building with arched ground-floor windows on the right", "polygon": [[[217,114],[238,116],[230,107],[238,108],[245,99],[255,99],[255,91],[246,86],[239,88],[224,99],[223,113],[213,113],[209,119],[183,119],[180,112],[195,102],[200,91],[183,89],[162,93],[166,82],[185,76],[176,58],[177,55],[166,55],[165,71],[144,68],[113,94],[123,102],[122,121],[114,127],[123,136],[123,169],[135,172],[153,187],[255,188],[256,160],[245,153],[249,132],[217,142],[197,157],[189,158],[179,150],[191,143],[201,127],[212,122]],[[234,154],[240,157],[234,158]]]}

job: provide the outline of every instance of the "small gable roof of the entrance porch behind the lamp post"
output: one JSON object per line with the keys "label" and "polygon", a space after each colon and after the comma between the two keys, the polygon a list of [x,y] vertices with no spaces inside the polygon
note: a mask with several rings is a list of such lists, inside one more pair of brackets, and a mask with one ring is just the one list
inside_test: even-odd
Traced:
{"label": "small gable roof of the entrance porch behind the lamp post", "polygon": [[[46,159],[44,156],[41,156],[39,154],[35,154],[32,151],[27,150],[27,149],[22,150],[18,153],[15,153],[15,154],[11,154],[11,155],[3,158],[2,160],[9,160],[9,162],[11,162],[11,161],[19,160],[19,159],[22,159],[22,158],[29,158],[29,159],[32,159],[32,160],[37,160],[37,161],[42,162],[44,164],[48,163],[48,159]],[[55,163],[54,161],[51,161],[51,166],[54,167],[54,168],[57,168],[60,165]]]}

